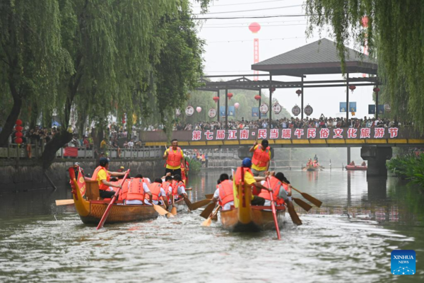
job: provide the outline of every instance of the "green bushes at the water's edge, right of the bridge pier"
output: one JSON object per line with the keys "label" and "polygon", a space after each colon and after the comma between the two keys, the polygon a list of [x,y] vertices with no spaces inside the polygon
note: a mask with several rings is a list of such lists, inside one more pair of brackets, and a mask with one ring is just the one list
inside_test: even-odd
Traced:
{"label": "green bushes at the water's edge, right of the bridge pier", "polygon": [[424,154],[419,156],[408,154],[391,158],[387,168],[401,179],[411,180],[424,189]]}

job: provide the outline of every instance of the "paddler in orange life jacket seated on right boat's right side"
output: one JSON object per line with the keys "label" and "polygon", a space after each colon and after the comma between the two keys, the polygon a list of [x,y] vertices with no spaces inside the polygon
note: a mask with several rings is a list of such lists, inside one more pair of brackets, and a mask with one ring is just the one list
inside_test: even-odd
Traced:
{"label": "paddler in orange life jacket seated on right boat's right side", "polygon": [[[288,185],[283,184],[288,183]],[[281,200],[284,200],[289,205],[289,202],[292,202],[291,198],[291,185],[290,182],[285,178],[284,174],[281,172],[275,173],[271,172],[269,177],[269,183],[273,191],[273,200],[276,204],[281,205]],[[268,182],[266,180],[261,182],[262,185],[268,187]],[[271,198],[269,197],[269,190],[262,190],[259,194],[261,197],[264,197],[265,203],[264,206],[271,206]],[[291,204],[293,205],[293,204]]]}

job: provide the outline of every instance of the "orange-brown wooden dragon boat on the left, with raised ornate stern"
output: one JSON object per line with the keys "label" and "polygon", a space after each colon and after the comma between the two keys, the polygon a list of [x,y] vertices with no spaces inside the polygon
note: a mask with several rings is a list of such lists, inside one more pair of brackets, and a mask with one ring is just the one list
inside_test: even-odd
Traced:
{"label": "orange-brown wooden dragon boat on the left, with raised ornate stern", "polygon": [[[80,175],[78,181],[75,178],[73,168],[69,168],[69,175],[73,181],[72,188],[73,203],[81,221],[84,224],[98,225],[102,218],[110,199],[100,199],[99,185],[97,181],[84,180]],[[177,205],[184,205],[184,200],[175,202]],[[165,206],[163,206],[165,208]],[[124,223],[133,221],[145,221],[158,217],[153,205],[124,205],[122,201],[117,201],[112,205],[110,214],[105,223]]]}

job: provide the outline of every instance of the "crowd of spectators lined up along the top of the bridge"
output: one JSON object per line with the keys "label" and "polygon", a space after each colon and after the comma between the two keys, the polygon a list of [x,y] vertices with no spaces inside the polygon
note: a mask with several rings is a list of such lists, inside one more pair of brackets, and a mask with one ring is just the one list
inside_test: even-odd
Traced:
{"label": "crowd of spectators lined up along the top of the bridge", "polygon": [[[310,118],[306,117],[305,119],[300,119],[299,117],[290,117],[283,118],[279,120],[272,120],[271,127],[276,128],[311,128],[311,127],[326,127],[326,128],[338,128],[338,127],[400,127],[400,126],[408,126],[411,123],[400,123],[396,120],[388,119],[388,118],[378,118],[374,117],[363,117],[363,118],[351,118],[346,120],[346,117],[324,117],[321,115],[319,118]],[[266,129],[269,127],[269,119],[261,119],[261,120],[242,120],[237,121],[228,121],[229,129]],[[162,129],[162,127],[153,127],[149,126],[144,128],[145,131],[158,131]],[[192,131],[192,130],[214,130],[214,129],[225,129],[225,120],[221,120],[220,122],[196,122],[192,123],[175,123],[173,130],[174,131]]]}

